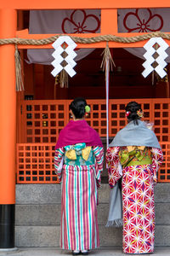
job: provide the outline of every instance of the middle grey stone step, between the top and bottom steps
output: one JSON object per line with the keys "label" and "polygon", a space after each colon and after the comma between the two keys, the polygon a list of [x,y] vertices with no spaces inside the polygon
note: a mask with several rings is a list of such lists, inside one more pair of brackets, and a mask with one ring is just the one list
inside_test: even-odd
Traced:
{"label": "middle grey stone step, between the top and bottom steps", "polygon": [[[16,225],[60,224],[60,204],[16,205]],[[109,212],[108,203],[98,206],[99,224],[105,225]],[[156,224],[170,224],[170,203],[156,203]]]}

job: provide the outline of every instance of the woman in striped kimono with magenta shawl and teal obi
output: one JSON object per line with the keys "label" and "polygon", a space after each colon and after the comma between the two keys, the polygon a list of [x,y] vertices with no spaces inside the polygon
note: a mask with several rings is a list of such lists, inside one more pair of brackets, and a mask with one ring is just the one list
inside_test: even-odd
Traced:
{"label": "woman in striped kimono with magenta shawl and teal obi", "polygon": [[103,145],[85,121],[90,111],[83,98],[70,106],[72,120],[60,131],[54,167],[62,181],[61,247],[73,255],[99,247],[97,187],[103,171]]}

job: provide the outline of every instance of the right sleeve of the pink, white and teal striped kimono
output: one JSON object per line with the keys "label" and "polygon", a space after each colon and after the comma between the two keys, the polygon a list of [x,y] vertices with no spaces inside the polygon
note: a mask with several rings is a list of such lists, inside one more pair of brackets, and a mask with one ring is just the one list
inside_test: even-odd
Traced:
{"label": "right sleeve of the pink, white and teal striped kimono", "polygon": [[100,187],[101,183],[101,172],[103,172],[103,162],[104,162],[104,148],[94,147],[94,158],[95,158],[95,176],[97,180],[97,186]]}

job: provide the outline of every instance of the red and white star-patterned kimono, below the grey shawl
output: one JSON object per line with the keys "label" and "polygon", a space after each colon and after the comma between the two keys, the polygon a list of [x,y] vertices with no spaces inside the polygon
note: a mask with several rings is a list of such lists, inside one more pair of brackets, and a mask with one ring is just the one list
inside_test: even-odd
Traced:
{"label": "red and white star-patterned kimono, below the grey shawl", "polygon": [[161,149],[148,148],[152,163],[126,166],[119,171],[120,153],[126,147],[107,149],[109,184],[122,177],[123,252],[153,253],[155,236],[154,183],[163,160]]}

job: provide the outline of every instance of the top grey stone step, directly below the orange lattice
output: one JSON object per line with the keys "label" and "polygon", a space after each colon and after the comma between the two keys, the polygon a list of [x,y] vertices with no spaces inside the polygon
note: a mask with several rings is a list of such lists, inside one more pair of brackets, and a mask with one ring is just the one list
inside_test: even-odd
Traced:
{"label": "top grey stone step, directly below the orange lattice", "polygon": [[[158,183],[155,187],[155,201],[170,203],[170,183]],[[99,203],[108,203],[110,189],[101,184]],[[60,203],[61,186],[59,184],[16,184],[16,205],[56,204]]]}

